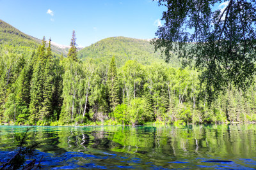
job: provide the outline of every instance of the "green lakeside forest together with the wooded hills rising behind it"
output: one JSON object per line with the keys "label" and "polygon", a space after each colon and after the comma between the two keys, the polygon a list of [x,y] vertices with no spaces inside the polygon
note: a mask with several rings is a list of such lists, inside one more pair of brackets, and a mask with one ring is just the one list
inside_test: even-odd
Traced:
{"label": "green lakeside forest together with the wooded hills rising behind it", "polygon": [[[49,42],[49,43],[47,43]],[[0,122],[16,125],[256,121],[256,86],[200,97],[200,71],[180,69],[146,40],[108,38],[65,55],[0,20]]]}

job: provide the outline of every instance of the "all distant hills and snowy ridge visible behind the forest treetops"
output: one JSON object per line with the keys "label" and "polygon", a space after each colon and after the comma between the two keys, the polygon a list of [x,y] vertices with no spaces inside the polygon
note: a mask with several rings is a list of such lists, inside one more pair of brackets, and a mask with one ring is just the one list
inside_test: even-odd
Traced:
{"label": "all distant hills and snowy ridge visible behind the forest treetops", "polygon": [[[4,49],[13,53],[31,53],[36,50],[42,39],[24,34],[10,24],[0,20],[0,52]],[[52,42],[52,52],[67,57],[67,46],[61,46]],[[164,62],[161,53],[154,52],[154,46],[150,41],[144,39],[134,39],[125,37],[106,38],[90,45],[86,48],[78,48],[78,58],[92,58],[95,62],[109,63],[112,56],[116,58],[118,67],[123,66],[127,60],[137,60],[141,64],[152,62]],[[173,58],[170,63],[172,66],[179,66],[177,58]]]}

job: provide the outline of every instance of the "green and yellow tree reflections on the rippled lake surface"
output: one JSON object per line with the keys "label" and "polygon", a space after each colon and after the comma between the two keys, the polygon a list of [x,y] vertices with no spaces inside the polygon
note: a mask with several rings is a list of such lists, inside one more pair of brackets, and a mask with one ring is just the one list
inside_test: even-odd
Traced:
{"label": "green and yellow tree reflections on the rippled lake surface", "polygon": [[[10,129],[0,129],[1,148],[12,145]],[[20,131],[14,129],[13,132]],[[21,131],[20,131],[21,132]],[[109,150],[145,159],[189,159],[212,155],[250,157],[256,153],[255,125],[189,125],[166,127],[37,127],[39,150],[61,154]],[[2,149],[1,149],[2,150]]]}

